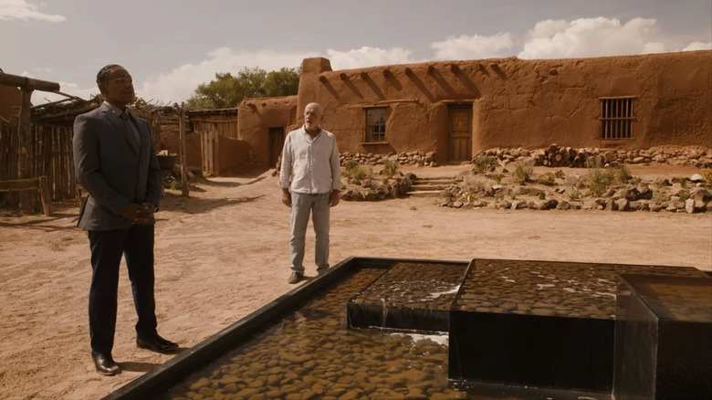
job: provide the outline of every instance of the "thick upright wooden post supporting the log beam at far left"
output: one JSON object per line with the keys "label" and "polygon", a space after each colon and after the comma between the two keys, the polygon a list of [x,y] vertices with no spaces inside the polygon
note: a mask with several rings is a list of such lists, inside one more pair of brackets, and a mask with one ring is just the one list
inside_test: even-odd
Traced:
{"label": "thick upright wooden post supporting the log beam at far left", "polygon": [[[32,89],[22,89],[22,104],[20,105],[19,123],[17,124],[17,179],[34,177],[35,146],[32,142]],[[20,192],[20,212],[30,214],[35,212],[37,195],[32,192]]]}

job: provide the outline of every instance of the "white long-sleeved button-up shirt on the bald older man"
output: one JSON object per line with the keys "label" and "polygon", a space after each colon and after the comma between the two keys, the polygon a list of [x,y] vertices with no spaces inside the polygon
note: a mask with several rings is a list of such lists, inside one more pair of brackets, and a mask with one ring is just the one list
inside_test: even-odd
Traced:
{"label": "white long-sleeved button-up shirt on the bald older man", "polygon": [[309,195],[339,190],[341,166],[334,135],[322,129],[311,139],[304,127],[289,132],[282,149],[279,186]]}

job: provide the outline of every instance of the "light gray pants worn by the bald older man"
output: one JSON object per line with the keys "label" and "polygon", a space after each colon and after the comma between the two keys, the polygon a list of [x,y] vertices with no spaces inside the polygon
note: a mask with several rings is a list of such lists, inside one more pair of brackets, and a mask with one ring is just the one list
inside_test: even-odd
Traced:
{"label": "light gray pants worn by the bald older man", "polygon": [[307,195],[291,193],[292,216],[291,237],[289,237],[289,257],[292,259],[292,271],[304,275],[304,239],[307,236],[309,212],[316,234],[314,259],[317,271],[329,268],[329,197],[330,193]]}

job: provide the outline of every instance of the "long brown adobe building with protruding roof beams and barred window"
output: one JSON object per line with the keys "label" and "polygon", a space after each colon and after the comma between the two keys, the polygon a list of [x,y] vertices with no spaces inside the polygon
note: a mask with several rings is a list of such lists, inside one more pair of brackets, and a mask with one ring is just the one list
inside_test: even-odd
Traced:
{"label": "long brown adobe building with protruding roof beams and barred window", "polygon": [[[341,152],[435,152],[470,161],[502,147],[712,147],[712,51],[439,61],[334,71],[307,58],[297,96],[247,99],[239,139],[273,167],[312,101]],[[282,136],[280,137],[280,132]]]}

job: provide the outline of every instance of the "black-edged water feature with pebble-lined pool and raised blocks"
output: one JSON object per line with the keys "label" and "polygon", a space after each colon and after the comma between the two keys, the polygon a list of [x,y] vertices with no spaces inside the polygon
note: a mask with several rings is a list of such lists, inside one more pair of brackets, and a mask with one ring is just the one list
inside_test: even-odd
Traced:
{"label": "black-edged water feature with pebble-lined pool and raised blocks", "polygon": [[[712,284],[695,268],[350,258],[105,399],[608,400],[615,352],[635,347],[633,333],[614,341],[617,313],[628,315],[620,274]],[[698,304],[690,318],[707,321]],[[667,332],[645,348],[679,336]],[[656,393],[652,374],[644,393]]]}

